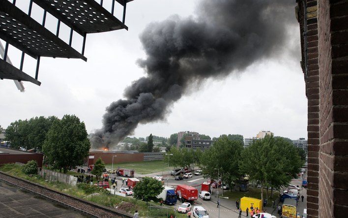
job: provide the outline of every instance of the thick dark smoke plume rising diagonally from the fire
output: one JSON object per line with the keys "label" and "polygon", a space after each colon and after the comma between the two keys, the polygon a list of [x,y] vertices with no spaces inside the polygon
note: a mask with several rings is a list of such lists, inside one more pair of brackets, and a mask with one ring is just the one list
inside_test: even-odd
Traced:
{"label": "thick dark smoke plume rising diagonally from the fire", "polygon": [[150,24],[141,34],[147,73],[110,104],[92,146],[109,147],[139,123],[163,120],[191,84],[243,71],[279,55],[294,23],[294,0],[203,0],[196,17]]}

